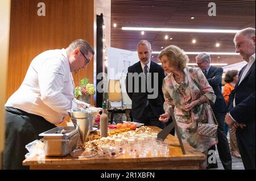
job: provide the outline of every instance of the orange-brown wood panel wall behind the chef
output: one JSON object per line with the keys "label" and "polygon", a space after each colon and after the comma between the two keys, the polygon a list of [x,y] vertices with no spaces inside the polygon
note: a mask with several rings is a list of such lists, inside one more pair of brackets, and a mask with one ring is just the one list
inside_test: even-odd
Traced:
{"label": "orange-brown wood panel wall behind the chef", "polygon": [[[38,16],[39,2],[45,3],[46,16]],[[7,99],[19,88],[36,55],[67,48],[75,39],[85,39],[94,47],[94,6],[94,0],[11,1]],[[93,83],[93,62],[73,74],[75,85],[84,77]]]}

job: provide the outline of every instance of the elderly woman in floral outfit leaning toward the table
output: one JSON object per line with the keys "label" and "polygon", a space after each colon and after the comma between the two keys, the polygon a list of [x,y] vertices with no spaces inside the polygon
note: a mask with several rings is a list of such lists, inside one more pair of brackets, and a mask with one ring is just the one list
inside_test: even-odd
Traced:
{"label": "elderly woman in floral outfit leaning toward the table", "polygon": [[[201,153],[207,154],[208,148],[216,144],[215,138],[199,136],[196,133],[196,120],[212,120],[209,109],[204,107],[207,99],[216,100],[212,87],[203,72],[198,68],[186,68],[188,56],[175,45],[170,45],[158,56],[164,71],[169,73],[163,81],[164,111],[159,120],[164,123],[170,117],[169,108],[174,108],[177,126],[183,141]],[[203,95],[201,94],[203,92]],[[192,128],[192,129],[191,129]]]}

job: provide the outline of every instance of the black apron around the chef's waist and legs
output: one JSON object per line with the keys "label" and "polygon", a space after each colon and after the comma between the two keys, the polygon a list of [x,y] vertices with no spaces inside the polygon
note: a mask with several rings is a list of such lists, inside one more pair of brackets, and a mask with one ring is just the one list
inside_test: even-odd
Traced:
{"label": "black apron around the chef's waist and legs", "polygon": [[28,169],[22,161],[28,150],[25,146],[40,140],[38,134],[55,128],[42,116],[27,113],[18,108],[5,107],[5,150],[2,155],[3,169]]}

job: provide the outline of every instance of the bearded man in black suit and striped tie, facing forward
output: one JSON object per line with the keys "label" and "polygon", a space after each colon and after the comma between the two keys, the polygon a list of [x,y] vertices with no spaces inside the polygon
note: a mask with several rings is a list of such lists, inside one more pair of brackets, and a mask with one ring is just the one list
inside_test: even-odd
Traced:
{"label": "bearded man in black suit and striped tie, facing forward", "polygon": [[165,124],[158,118],[164,113],[164,70],[150,60],[152,49],[148,41],[139,41],[137,50],[140,61],[128,68],[126,77],[126,92],[132,100],[131,115],[135,122],[163,129]]}

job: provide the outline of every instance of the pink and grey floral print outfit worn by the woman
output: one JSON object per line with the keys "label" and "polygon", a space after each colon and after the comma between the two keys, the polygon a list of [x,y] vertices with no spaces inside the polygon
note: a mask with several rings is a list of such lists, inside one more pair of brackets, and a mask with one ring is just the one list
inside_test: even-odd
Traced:
{"label": "pink and grey floral print outfit worn by the woman", "polygon": [[196,128],[196,120],[199,119],[212,122],[213,117],[204,103],[195,106],[191,111],[185,111],[185,104],[198,99],[201,96],[201,91],[212,103],[215,102],[216,95],[214,95],[212,87],[199,68],[185,68],[183,71],[185,79],[181,84],[175,81],[172,73],[164,78],[162,87],[165,99],[164,111],[170,115],[169,108],[174,108],[174,116],[183,141],[193,148],[204,152],[210,146],[216,144],[216,140],[214,138],[198,136],[196,132],[189,132],[187,128]]}

